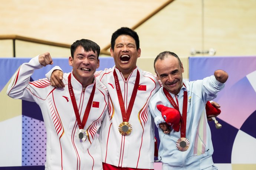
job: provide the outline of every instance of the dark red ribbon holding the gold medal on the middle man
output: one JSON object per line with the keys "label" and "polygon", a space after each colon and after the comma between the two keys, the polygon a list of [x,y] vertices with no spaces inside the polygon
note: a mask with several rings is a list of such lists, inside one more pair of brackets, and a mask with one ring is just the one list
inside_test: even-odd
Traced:
{"label": "dark red ribbon holding the gold medal on the middle man", "polygon": [[120,84],[119,84],[119,81],[118,81],[118,76],[117,76],[115,70],[114,70],[113,74],[114,74],[116,93],[117,93],[118,101],[119,101],[119,104],[120,104],[120,109],[121,109],[121,113],[122,113],[123,122],[128,122],[129,118],[131,116],[132,107],[133,107],[133,104],[134,104],[134,101],[135,101],[135,98],[136,98],[136,95],[137,95],[139,83],[140,83],[140,72],[137,70],[137,76],[136,76],[136,79],[135,79],[135,84],[134,84],[134,88],[133,88],[133,91],[132,91],[132,96],[131,96],[131,99],[130,99],[130,102],[129,102],[127,112],[125,111],[124,100],[123,100]]}

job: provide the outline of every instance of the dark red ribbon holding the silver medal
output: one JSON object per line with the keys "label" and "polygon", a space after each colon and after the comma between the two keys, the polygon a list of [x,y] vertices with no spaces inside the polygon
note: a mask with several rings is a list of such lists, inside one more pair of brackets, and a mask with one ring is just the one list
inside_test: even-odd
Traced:
{"label": "dark red ribbon holding the silver medal", "polygon": [[88,116],[89,116],[89,113],[90,113],[90,110],[91,110],[92,100],[93,100],[93,96],[94,96],[94,93],[95,93],[96,83],[93,85],[92,92],[91,92],[91,95],[89,97],[89,101],[87,103],[85,113],[83,115],[83,120],[82,120],[82,123],[81,123],[81,119],[80,119],[80,116],[79,116],[79,111],[78,111],[77,104],[76,104],[75,93],[74,93],[72,85],[71,85],[71,74],[72,73],[70,73],[69,76],[68,76],[69,95],[70,95],[72,105],[73,105],[73,108],[74,108],[74,111],[75,111],[76,121],[78,123],[78,127],[79,127],[79,129],[83,129],[85,127],[85,123],[88,119]]}

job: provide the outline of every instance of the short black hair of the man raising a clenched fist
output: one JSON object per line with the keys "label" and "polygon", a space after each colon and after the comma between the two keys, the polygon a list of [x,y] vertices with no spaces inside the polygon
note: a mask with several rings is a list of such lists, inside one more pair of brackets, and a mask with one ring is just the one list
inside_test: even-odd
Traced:
{"label": "short black hair of the man raising a clenched fist", "polygon": [[76,48],[78,48],[79,46],[83,47],[86,52],[89,52],[89,51],[93,51],[95,53],[97,52],[97,55],[98,55],[97,59],[99,59],[99,52],[101,51],[101,48],[95,42],[87,39],[76,40],[71,45],[70,51],[71,51],[72,58],[74,58],[74,52],[76,51]]}

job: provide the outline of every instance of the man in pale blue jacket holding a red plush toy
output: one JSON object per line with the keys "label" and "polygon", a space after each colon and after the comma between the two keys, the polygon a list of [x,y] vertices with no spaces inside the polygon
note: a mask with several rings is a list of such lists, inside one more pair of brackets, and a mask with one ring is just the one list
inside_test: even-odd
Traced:
{"label": "man in pale blue jacket holding a red plush toy", "polygon": [[216,170],[206,102],[224,88],[228,74],[216,70],[203,80],[183,81],[183,65],[170,51],[158,54],[154,68],[163,87],[151,98],[149,108],[158,126],[162,169]]}

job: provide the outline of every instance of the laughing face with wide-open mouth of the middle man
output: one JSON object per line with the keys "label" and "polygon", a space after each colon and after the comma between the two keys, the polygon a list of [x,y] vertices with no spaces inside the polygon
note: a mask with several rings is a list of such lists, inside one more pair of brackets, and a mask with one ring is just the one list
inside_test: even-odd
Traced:
{"label": "laughing face with wide-open mouth of the middle man", "polygon": [[137,58],[141,55],[141,49],[137,50],[135,40],[129,35],[120,35],[115,40],[114,49],[110,49],[114,57],[115,67],[118,68],[125,78],[136,68]]}

